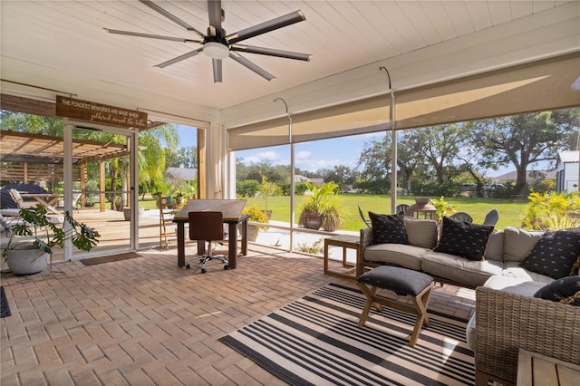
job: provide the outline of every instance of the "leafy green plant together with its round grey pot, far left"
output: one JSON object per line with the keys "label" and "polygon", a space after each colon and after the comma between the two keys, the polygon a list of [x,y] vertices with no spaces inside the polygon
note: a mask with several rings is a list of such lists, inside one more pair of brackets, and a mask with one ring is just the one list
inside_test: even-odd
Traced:
{"label": "leafy green plant together with its round grey pot, far left", "polygon": [[[15,275],[33,275],[48,264],[53,246],[63,247],[66,240],[82,251],[90,251],[101,235],[92,227],[76,221],[71,213],[64,213],[67,227],[61,227],[47,216],[47,209],[36,207],[20,209],[21,221],[10,226],[10,237],[2,251],[8,267]],[[66,230],[65,230],[66,229]]]}

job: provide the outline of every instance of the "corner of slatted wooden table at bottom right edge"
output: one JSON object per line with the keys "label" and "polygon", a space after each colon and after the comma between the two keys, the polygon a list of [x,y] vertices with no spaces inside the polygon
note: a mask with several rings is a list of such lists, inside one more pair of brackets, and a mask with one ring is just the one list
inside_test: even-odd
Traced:
{"label": "corner of slatted wooden table at bottom right edge", "polygon": [[580,380],[580,366],[536,352],[517,353],[517,385],[572,386]]}

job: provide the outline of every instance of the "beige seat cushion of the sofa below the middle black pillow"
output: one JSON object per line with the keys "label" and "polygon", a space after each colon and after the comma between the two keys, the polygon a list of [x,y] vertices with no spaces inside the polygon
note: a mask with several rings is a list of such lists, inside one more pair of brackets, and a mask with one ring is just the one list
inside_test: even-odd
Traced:
{"label": "beige seat cushion of the sofa below the middle black pillow", "polygon": [[491,275],[501,275],[503,263],[468,260],[465,257],[429,251],[422,260],[422,270],[468,287],[477,287]]}

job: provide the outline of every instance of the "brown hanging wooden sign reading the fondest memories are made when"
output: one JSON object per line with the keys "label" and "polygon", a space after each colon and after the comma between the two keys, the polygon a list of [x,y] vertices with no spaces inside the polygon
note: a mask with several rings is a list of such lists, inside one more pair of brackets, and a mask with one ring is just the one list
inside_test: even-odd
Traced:
{"label": "brown hanging wooden sign reading the fondest memories are made when", "polygon": [[147,129],[147,112],[56,96],[56,116],[125,128]]}

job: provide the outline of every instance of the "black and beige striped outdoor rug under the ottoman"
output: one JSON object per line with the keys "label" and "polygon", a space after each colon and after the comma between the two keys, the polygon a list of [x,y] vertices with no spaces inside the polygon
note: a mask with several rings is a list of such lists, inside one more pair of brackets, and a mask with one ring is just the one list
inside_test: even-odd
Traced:
{"label": "black and beige striped outdoor rug under the ottoman", "polygon": [[364,302],[326,285],[220,340],[294,385],[475,384],[465,322],[430,314],[411,347],[414,315],[373,309],[359,327]]}

